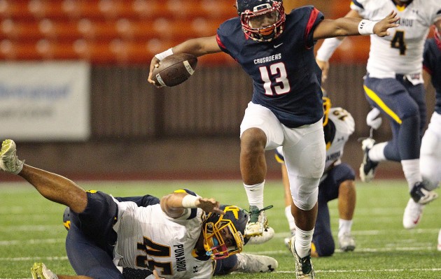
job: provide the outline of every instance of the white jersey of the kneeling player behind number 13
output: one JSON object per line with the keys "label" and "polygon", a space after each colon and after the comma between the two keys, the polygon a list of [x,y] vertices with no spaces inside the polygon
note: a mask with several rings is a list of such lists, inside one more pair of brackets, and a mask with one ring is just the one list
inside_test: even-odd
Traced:
{"label": "white jersey of the kneeling player behind number 13", "polygon": [[[344,145],[349,140],[349,136],[355,130],[355,122],[351,113],[344,108],[331,108],[328,114],[329,120],[325,130],[326,139],[326,162],[325,172],[328,171],[332,164],[340,164],[343,156]],[[282,147],[276,148],[276,159],[283,163]]]}

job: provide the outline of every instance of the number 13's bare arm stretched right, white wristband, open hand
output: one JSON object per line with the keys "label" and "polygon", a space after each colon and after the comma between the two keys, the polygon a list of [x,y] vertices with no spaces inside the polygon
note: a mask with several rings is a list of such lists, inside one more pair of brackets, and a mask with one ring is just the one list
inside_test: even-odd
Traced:
{"label": "number 13's bare arm stretched right, white wristband, open hand", "polygon": [[[383,20],[374,23],[372,34],[384,37],[387,36],[388,29],[398,27],[399,24],[395,23],[400,18],[396,16],[397,13],[392,11]],[[360,29],[358,25],[362,20],[354,17],[341,17],[337,20],[323,20],[318,24],[314,30],[314,39],[321,38],[333,38],[339,36],[355,36],[360,35]],[[369,21],[370,22],[370,21]]]}

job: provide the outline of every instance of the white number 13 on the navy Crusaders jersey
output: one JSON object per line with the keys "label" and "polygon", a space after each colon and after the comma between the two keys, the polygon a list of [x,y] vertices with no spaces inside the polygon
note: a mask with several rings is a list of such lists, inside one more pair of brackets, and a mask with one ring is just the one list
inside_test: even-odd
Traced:
{"label": "white number 13 on the navy Crusaders jersey", "polygon": [[[279,62],[269,66],[262,66],[259,69],[260,76],[264,82],[265,95],[273,96],[274,94],[281,95],[290,92],[289,81],[288,78],[286,78],[285,64]],[[274,87],[272,87],[272,80],[276,83]]]}

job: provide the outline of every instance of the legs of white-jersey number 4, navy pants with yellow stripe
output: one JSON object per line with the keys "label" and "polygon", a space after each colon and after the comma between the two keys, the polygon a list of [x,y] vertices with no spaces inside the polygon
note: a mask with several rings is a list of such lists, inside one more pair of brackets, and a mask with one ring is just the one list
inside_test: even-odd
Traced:
{"label": "legs of white-jersey number 4, navy pants with yellow stripe", "polygon": [[[427,189],[420,173],[421,135],[426,121],[423,85],[412,85],[402,76],[395,78],[365,78],[367,101],[388,117],[393,138],[386,143],[374,144],[372,138],[363,141],[363,163],[360,178],[367,182],[381,161],[400,162],[405,174],[411,203],[416,213],[422,205],[433,201],[437,194]],[[408,205],[409,207],[409,205]],[[422,211],[421,211],[422,212]]]}

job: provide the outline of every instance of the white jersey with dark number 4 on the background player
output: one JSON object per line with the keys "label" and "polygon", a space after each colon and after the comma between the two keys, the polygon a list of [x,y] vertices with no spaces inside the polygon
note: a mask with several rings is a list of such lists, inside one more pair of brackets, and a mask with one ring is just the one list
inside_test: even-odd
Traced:
{"label": "white jersey with dark number 4 on the background player", "polygon": [[414,84],[422,83],[424,41],[430,25],[441,19],[440,0],[413,0],[406,7],[391,0],[353,0],[351,9],[367,20],[381,20],[392,10],[397,12],[399,27],[388,29],[389,36],[370,35],[367,72],[372,78],[395,78],[395,74],[413,75]]}

